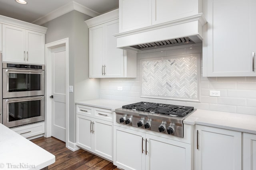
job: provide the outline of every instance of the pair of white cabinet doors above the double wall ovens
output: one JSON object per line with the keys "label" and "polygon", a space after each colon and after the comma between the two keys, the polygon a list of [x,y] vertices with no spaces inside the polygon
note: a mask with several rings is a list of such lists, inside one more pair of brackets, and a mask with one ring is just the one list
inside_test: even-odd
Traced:
{"label": "pair of white cabinet doors above the double wall ovens", "polygon": [[2,61],[44,64],[45,34],[2,25]]}

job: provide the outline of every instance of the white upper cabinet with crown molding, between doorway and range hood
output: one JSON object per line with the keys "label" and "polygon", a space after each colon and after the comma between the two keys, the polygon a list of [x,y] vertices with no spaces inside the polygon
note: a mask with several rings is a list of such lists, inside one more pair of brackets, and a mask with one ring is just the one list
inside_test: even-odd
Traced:
{"label": "white upper cabinet with crown molding, between doorway and range hood", "polygon": [[89,27],[89,77],[136,77],[136,52],[116,48],[113,34],[119,30],[118,10],[85,22]]}

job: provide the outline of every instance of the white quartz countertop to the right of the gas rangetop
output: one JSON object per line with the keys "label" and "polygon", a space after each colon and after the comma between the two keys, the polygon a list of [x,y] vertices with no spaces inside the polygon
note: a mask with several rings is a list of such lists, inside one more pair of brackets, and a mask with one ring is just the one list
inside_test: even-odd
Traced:
{"label": "white quartz countertop to the right of the gas rangetop", "polygon": [[256,116],[197,109],[183,123],[256,134]]}

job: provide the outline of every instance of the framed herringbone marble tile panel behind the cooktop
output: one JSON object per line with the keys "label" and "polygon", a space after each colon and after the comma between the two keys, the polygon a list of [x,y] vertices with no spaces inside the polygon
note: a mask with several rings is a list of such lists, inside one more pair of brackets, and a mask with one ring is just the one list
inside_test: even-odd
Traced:
{"label": "framed herringbone marble tile panel behind the cooktop", "polygon": [[197,56],[141,61],[142,96],[198,98]]}

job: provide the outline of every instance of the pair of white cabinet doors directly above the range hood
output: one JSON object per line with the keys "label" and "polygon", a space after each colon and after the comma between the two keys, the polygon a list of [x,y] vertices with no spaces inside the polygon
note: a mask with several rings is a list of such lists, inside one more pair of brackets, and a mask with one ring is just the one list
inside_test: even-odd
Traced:
{"label": "pair of white cabinet doors directly above the range hood", "polygon": [[119,0],[119,32],[174,21],[202,12],[202,0]]}

